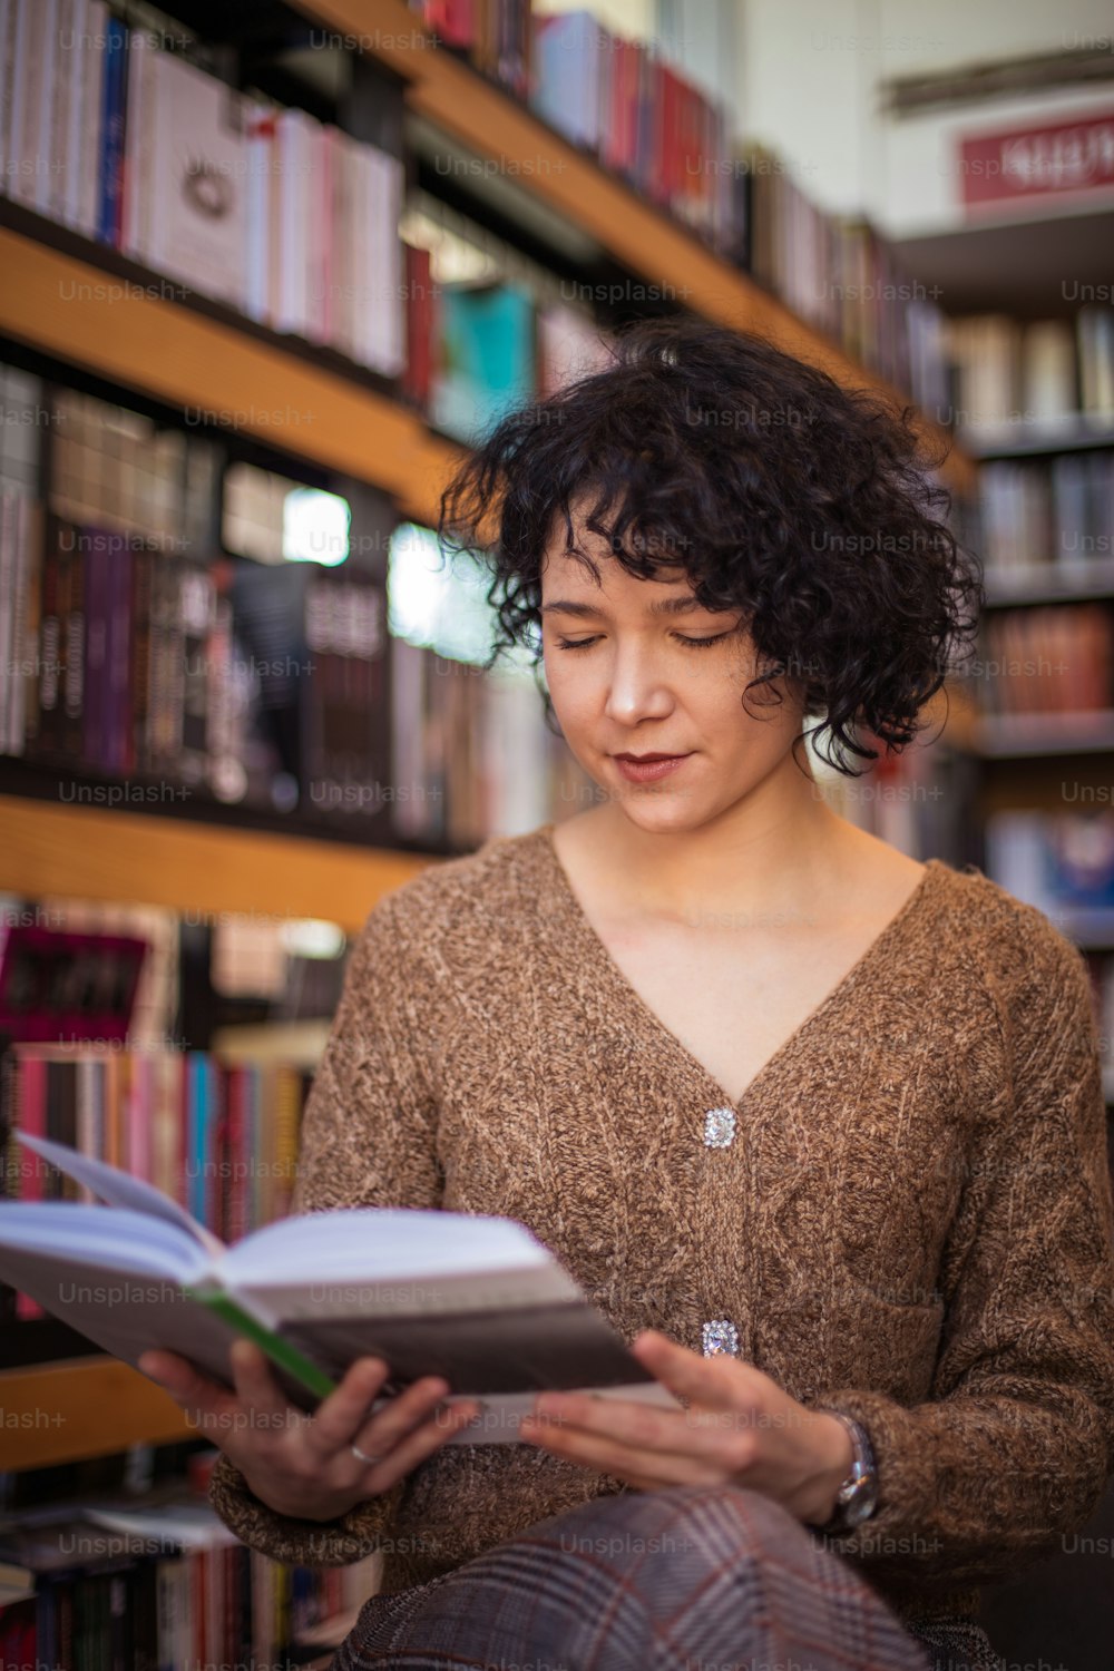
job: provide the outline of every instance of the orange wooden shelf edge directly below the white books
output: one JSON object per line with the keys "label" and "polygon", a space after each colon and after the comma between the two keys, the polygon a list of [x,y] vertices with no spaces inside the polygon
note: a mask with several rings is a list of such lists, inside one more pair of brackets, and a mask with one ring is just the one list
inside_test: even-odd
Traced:
{"label": "orange wooden shelf edge directly below the white books", "polygon": [[436,526],[461,449],[397,401],[3,226],[0,271],[0,333],[369,481]]}

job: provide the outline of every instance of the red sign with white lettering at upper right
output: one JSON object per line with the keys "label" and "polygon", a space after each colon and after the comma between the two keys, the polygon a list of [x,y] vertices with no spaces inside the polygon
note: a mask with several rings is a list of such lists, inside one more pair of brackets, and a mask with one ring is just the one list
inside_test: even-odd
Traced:
{"label": "red sign with white lettering at upper right", "polygon": [[1114,189],[1114,112],[960,140],[967,209]]}

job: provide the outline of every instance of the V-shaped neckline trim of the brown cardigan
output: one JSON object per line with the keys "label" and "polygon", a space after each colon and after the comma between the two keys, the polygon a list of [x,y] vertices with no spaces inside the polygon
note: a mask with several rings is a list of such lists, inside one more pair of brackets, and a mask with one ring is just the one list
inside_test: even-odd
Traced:
{"label": "V-shaped neckline trim of the brown cardigan", "polygon": [[710,1073],[708,1068],[705,1068],[705,1064],[700,1061],[698,1056],[693,1056],[688,1046],[683,1044],[681,1039],[676,1036],[676,1033],[673,1033],[673,1029],[665,1024],[665,1021],[658,1016],[658,1013],[650,1008],[650,1004],[641,996],[638,988],[633,986],[631,981],[623,973],[623,969],[620,969],[618,962],[615,961],[615,957],[605,946],[603,939],[593,927],[588,912],[576,897],[571,879],[565,871],[565,866],[561,864],[561,857],[553,841],[554,829],[556,824],[553,820],[543,824],[538,829],[538,836],[548,856],[549,869],[553,871],[553,881],[554,881],[554,897],[548,901],[548,906],[544,909],[551,909],[554,901],[563,902],[565,906],[563,916],[571,932],[578,936],[585,951],[591,957],[595,957],[595,961],[600,964],[601,969],[605,969],[613,991],[626,1003],[626,1008],[631,1009],[641,1019],[643,1026],[651,1028],[661,1038],[668,1039],[675,1053],[681,1058],[681,1061],[686,1063],[690,1071],[700,1074],[705,1086],[711,1086],[715,1089],[718,1108],[730,1108],[733,1113],[738,1113],[745,1103],[750,1103],[758,1095],[758,1088],[760,1086],[765,1088],[763,1081],[773,1078],[773,1074],[785,1066],[790,1056],[802,1044],[805,1034],[812,1033],[815,1026],[822,1019],[827,1019],[827,1016],[833,1009],[838,1009],[840,1003],[850,994],[850,991],[860,981],[863,971],[870,968],[870,964],[873,964],[885,951],[889,951],[890,942],[894,941],[897,932],[905,926],[909,917],[924,904],[929,889],[935,881],[937,871],[945,867],[942,859],[925,861],[920,881],[917,882],[914,891],[907,896],[904,904],[899,906],[890,921],[880,929],[879,934],[875,934],[870,946],[867,946],[867,949],[862,952],[860,957],[855,959],[850,969],[847,969],[847,973],[840,976],[835,986],[820,999],[815,1009],[812,1009],[805,1016],[800,1026],[793,1028],[790,1036],[782,1044],[778,1044],[778,1048],[773,1051],[772,1056],[767,1058],[767,1061],[758,1068],[758,1071],[752,1076],[750,1083],[745,1086],[742,1096],[732,1098],[728,1096],[725,1086],[722,1086],[720,1081],[715,1078],[715,1074]]}

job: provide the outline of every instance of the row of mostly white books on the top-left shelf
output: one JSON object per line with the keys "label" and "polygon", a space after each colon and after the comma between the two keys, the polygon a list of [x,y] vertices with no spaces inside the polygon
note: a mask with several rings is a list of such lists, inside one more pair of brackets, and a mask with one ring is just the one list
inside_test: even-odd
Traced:
{"label": "row of mostly white books on the top-left shelf", "polygon": [[165,274],[159,296],[403,373],[397,157],[235,92],[105,0],[12,0],[0,28],[0,189]]}

